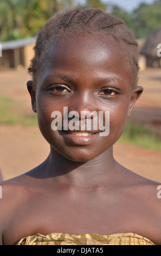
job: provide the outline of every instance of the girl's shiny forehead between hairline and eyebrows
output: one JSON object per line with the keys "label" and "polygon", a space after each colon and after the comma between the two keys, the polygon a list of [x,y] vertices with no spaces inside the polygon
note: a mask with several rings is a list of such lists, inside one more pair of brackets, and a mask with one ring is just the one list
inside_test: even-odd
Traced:
{"label": "girl's shiny forehead between hairline and eyebrows", "polygon": [[57,70],[83,76],[114,72],[131,80],[131,66],[123,44],[101,33],[70,35],[50,42],[42,68],[44,75]]}

